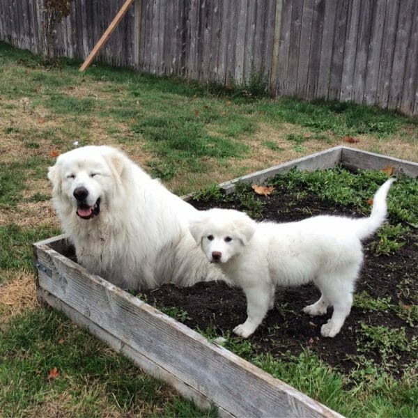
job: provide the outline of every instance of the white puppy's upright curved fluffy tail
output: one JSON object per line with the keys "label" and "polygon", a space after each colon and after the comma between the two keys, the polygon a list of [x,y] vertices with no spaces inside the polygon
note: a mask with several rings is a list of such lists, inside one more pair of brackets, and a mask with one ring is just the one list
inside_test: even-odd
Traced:
{"label": "white puppy's upright curved fluffy tail", "polygon": [[364,240],[375,233],[379,226],[385,222],[387,217],[387,203],[386,198],[389,193],[389,189],[394,183],[395,178],[389,178],[383,183],[376,194],[373,196],[373,208],[371,208],[371,214],[364,219],[358,219],[357,221],[357,237],[360,240]]}

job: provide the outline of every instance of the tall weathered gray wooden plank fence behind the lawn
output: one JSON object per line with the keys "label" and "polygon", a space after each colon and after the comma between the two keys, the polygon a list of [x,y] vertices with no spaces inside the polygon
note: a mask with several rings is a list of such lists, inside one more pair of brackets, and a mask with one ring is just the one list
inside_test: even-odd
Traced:
{"label": "tall weathered gray wooden plank fence behind the lawn", "polygon": [[[46,53],[40,0],[0,0],[0,40]],[[123,0],[75,0],[56,56],[85,59]],[[417,0],[135,0],[98,59],[272,95],[418,114]]]}

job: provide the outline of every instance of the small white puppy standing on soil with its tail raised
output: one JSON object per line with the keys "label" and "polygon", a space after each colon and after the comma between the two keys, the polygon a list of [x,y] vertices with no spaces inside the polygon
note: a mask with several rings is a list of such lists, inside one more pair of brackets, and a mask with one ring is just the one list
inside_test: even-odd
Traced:
{"label": "small white puppy standing on soil with its tail raised", "polygon": [[[245,323],[234,328],[247,337],[274,307],[275,286],[314,281],[320,299],[303,310],[311,316],[334,313],[321,327],[323,336],[339,333],[353,304],[355,281],[363,261],[362,242],[385,221],[386,196],[394,179],[376,192],[370,217],[317,216],[300,222],[257,223],[245,213],[210,209],[190,224],[209,261],[216,261],[247,297]],[[216,259],[218,258],[218,259]]]}

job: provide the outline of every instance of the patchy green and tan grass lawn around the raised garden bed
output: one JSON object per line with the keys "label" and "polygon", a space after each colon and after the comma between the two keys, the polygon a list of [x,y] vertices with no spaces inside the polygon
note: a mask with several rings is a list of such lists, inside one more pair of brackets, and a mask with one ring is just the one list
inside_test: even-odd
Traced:
{"label": "patchy green and tan grass lawn around the raised garden bed", "polygon": [[[349,103],[273,101],[251,85],[224,91],[105,65],[81,74],[78,66],[45,66],[0,43],[0,415],[215,416],[38,306],[31,243],[60,231],[47,167],[76,142],[110,144],[185,194],[337,144],[418,161],[418,119]],[[284,365],[284,380],[295,384],[310,362]]]}

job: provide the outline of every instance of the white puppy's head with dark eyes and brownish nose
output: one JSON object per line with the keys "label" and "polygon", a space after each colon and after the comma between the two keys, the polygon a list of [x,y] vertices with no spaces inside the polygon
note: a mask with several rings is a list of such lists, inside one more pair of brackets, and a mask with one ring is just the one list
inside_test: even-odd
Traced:
{"label": "white puppy's head with dark eyes and brownish nose", "polygon": [[201,212],[189,229],[210,262],[227,263],[251,240],[256,222],[238,210],[210,209]]}

